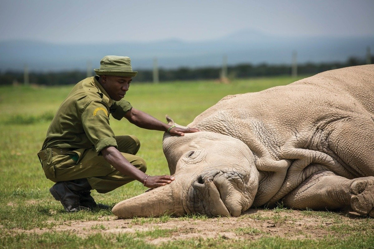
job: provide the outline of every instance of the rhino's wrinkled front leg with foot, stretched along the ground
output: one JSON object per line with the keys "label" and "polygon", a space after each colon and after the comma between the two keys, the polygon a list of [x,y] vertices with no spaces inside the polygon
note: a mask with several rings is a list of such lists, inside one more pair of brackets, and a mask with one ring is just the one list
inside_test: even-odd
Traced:
{"label": "rhino's wrinkled front leg with foot, stretched along the ground", "polygon": [[352,208],[359,214],[374,217],[374,177],[350,180],[330,171],[316,172],[282,201],[289,208]]}

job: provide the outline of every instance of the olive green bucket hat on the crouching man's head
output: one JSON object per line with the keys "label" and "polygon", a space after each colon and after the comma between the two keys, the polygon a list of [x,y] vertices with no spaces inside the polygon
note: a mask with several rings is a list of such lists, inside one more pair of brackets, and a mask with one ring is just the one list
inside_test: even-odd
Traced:
{"label": "olive green bucket hat on the crouching man's head", "polygon": [[100,61],[100,68],[93,69],[97,75],[114,75],[135,77],[138,72],[132,71],[131,60],[127,56],[107,55]]}

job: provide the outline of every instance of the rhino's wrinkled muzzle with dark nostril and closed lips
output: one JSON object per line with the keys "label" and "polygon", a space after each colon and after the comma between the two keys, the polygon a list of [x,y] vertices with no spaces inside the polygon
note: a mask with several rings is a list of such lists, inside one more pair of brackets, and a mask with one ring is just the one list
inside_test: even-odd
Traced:
{"label": "rhino's wrinkled muzzle with dark nostril and closed lips", "polygon": [[237,171],[211,171],[198,175],[183,198],[188,214],[239,216],[242,213],[243,175]]}

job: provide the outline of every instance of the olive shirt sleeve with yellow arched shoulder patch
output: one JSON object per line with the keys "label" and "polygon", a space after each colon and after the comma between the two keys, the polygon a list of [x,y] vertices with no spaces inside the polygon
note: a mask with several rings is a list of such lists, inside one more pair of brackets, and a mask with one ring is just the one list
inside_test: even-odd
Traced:
{"label": "olive shirt sleeve with yellow arched shoulder patch", "polygon": [[107,106],[101,101],[92,101],[82,113],[82,125],[97,153],[108,146],[117,148],[112,128],[109,126]]}

